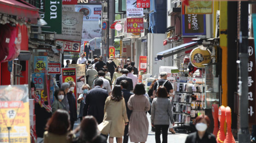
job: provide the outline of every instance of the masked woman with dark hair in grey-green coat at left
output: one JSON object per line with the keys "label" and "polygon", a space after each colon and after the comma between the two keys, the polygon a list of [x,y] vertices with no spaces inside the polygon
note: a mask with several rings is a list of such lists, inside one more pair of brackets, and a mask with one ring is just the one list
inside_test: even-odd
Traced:
{"label": "masked woman with dark hair in grey-green coat at left", "polygon": [[55,97],[55,100],[52,104],[52,114],[58,109],[66,110],[66,107],[65,107],[64,103],[62,102],[65,97],[64,89],[59,88],[59,89],[55,90],[54,97]]}

